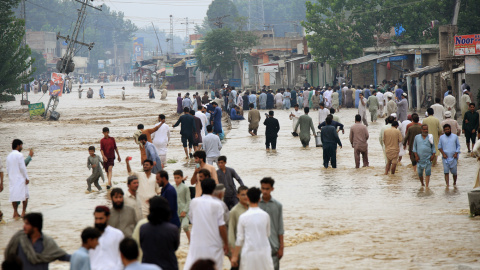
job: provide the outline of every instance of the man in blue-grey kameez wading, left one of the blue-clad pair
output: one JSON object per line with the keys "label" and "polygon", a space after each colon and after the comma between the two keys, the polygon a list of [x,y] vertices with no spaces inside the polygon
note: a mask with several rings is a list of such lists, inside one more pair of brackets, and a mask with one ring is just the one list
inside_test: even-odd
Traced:
{"label": "man in blue-grey kameez wading, left one of the blue-clad pair", "polygon": [[[413,140],[413,153],[417,161],[417,173],[420,183],[428,188],[430,175],[432,174],[432,161],[435,158],[435,144],[433,136],[428,134],[428,125],[422,125],[422,133]],[[425,184],[423,183],[423,171],[425,171]]]}

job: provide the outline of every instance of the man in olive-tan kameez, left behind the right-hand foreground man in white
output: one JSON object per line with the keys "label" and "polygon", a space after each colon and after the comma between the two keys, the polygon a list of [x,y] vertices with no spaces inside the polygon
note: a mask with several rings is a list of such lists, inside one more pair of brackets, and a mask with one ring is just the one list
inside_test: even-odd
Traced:
{"label": "man in olive-tan kameez, left behind the right-hand foreground man in white", "polygon": [[[231,254],[233,254],[235,242],[237,241],[238,219],[241,214],[248,210],[247,191],[248,188],[246,186],[238,188],[237,197],[239,202],[230,210],[230,219],[228,220],[228,247],[230,248]],[[234,269],[238,269],[238,267],[232,267],[232,270]]]}

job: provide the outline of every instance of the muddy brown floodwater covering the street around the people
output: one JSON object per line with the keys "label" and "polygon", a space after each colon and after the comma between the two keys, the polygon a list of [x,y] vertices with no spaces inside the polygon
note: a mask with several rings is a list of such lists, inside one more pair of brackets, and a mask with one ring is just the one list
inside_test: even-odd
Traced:
{"label": "muddy brown floodwater covering the street around the people", "polygon": [[[121,100],[124,85],[127,99]],[[177,119],[178,91],[170,91],[164,101],[156,92],[157,98],[149,100],[147,88],[134,88],[131,82],[111,83],[105,84],[106,99],[102,100],[98,98],[99,85],[89,86],[95,89],[94,99],[86,99],[85,93],[78,99],[77,92],[60,98],[58,122],[30,120],[19,101],[2,104],[0,110],[0,157],[5,162],[15,138],[23,140],[24,149],[35,149],[28,166],[28,211],[42,212],[43,231],[70,253],[80,246],[82,229],[93,225],[94,207],[111,205],[106,192],[84,193],[90,174],[87,148],[94,145],[99,149],[101,129],[108,126],[117,140],[122,162],[115,164],[113,181],[126,189],[124,159],[132,156],[132,169],[140,169],[139,150],[132,138],[137,124],[153,127],[160,113],[167,115],[170,126]],[[30,100],[47,103],[48,97],[31,94]],[[281,126],[277,153],[266,153],[263,125],[260,136],[251,137],[246,121],[232,123],[222,149],[227,166],[235,168],[247,186],[259,186],[264,176],[276,180],[273,196],[283,204],[285,222],[282,269],[480,269],[480,219],[469,217],[467,199],[477,164],[467,156],[463,135],[457,187],[445,187],[443,168],[437,166],[432,170],[431,187],[425,190],[408,158],[396,175],[383,175],[378,142],[382,119],[368,127],[371,167],[355,169],[348,134],[356,110],[341,110],[338,115],[346,130],[340,134],[344,147],[337,151],[338,168],[324,169],[322,149],[313,147],[314,138],[312,147],[303,150],[299,139],[291,136],[288,114],[275,111]],[[264,112],[261,115],[263,118]],[[311,116],[316,123],[317,112]],[[168,163],[167,171],[182,169],[191,176],[194,164],[184,159],[179,128],[172,130],[168,151],[167,158],[176,163]],[[11,218],[8,177],[4,182],[0,202],[7,223],[0,225],[0,260],[8,240],[23,225]],[[187,252],[182,233],[177,252],[181,265]],[[228,267],[225,260],[224,269]],[[69,265],[56,262],[50,268],[68,269]]]}

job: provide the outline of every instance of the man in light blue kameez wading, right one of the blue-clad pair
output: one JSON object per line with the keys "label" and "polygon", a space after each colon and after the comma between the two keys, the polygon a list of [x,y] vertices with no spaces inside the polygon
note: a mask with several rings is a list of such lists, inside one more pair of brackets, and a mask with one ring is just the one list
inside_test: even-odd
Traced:
{"label": "man in light blue kameez wading, right one of the blue-clad pair", "polygon": [[443,135],[438,142],[438,151],[442,153],[443,173],[445,183],[449,184],[449,173],[453,175],[453,185],[457,184],[457,161],[460,154],[460,141],[456,134],[452,134],[452,127],[449,124],[443,126]]}

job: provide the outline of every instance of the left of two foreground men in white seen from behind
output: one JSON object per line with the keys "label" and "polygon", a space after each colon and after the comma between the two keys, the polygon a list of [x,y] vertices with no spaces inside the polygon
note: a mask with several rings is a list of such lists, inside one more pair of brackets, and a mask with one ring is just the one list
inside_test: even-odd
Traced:
{"label": "left of two foreground men in white seen from behind", "polygon": [[190,270],[198,259],[211,259],[215,262],[216,269],[223,269],[223,258],[225,252],[228,252],[223,206],[212,197],[216,186],[213,179],[205,179],[201,185],[203,195],[191,201],[188,212],[192,230],[183,269]]}

